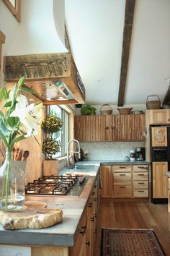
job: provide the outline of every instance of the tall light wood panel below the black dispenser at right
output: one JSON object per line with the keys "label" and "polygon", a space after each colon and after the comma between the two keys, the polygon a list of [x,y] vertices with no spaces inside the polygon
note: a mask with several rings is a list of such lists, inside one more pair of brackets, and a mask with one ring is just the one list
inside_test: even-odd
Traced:
{"label": "tall light wood panel below the black dispenser at right", "polygon": [[167,162],[153,162],[153,198],[168,198]]}

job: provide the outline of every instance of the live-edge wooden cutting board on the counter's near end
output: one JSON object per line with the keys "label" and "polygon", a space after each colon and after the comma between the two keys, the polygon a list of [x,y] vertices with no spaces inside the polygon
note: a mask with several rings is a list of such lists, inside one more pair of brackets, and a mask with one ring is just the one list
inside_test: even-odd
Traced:
{"label": "live-edge wooden cutting board on the counter's near end", "polygon": [[27,201],[18,211],[0,211],[4,229],[44,229],[62,221],[61,209],[47,209],[41,202]]}

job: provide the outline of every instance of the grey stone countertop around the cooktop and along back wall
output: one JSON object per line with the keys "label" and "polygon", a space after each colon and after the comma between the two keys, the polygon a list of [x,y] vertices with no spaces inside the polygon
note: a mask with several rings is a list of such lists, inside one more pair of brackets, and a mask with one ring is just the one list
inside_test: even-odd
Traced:
{"label": "grey stone countertop around the cooktop and along back wall", "polygon": [[[100,164],[102,165],[121,165],[121,164],[149,164],[146,161],[86,161],[76,164],[94,164],[93,170],[72,170],[82,174],[89,174],[90,178],[79,197],[67,196],[27,196],[26,200],[45,202],[48,208],[61,208],[63,210],[63,221],[47,229],[20,229],[17,231],[7,231],[0,224],[0,243],[1,244],[23,244],[40,246],[61,246],[73,247],[76,236],[79,233],[79,223],[84,214],[84,208],[91,193],[95,176],[97,175]],[[72,172],[63,169],[59,174]]]}

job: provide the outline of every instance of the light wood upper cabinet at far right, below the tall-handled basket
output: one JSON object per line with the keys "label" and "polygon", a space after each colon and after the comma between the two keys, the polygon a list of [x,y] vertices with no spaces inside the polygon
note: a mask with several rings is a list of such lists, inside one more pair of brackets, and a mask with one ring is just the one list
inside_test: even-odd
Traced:
{"label": "light wood upper cabinet at far right, below the tall-handled basket", "polygon": [[148,124],[170,124],[170,109],[146,110]]}

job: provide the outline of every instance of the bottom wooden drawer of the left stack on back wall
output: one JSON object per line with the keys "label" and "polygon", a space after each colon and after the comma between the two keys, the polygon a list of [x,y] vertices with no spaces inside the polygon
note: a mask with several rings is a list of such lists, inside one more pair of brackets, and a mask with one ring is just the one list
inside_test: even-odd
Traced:
{"label": "bottom wooden drawer of the left stack on back wall", "polygon": [[114,185],[114,197],[132,197],[131,184]]}

